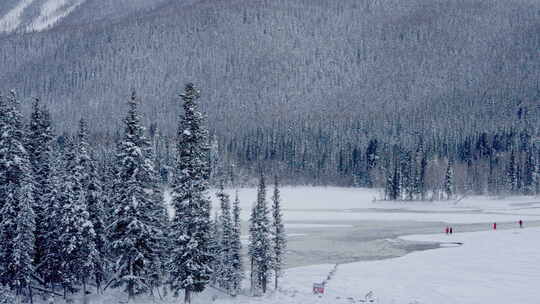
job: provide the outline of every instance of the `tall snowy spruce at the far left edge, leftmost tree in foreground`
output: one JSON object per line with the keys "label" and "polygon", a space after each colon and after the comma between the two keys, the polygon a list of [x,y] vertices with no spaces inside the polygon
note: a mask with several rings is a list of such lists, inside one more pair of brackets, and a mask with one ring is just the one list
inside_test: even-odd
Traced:
{"label": "tall snowy spruce at the far left edge, leftmost tree in foreground", "polygon": [[31,294],[34,274],[33,177],[19,101],[0,96],[0,284]]}

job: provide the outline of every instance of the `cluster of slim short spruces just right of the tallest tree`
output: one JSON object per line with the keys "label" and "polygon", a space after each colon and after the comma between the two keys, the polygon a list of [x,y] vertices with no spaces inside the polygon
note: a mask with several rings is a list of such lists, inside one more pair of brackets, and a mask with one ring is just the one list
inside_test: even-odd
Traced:
{"label": "cluster of slim short spruces just right of the tallest tree", "polygon": [[[257,200],[251,209],[249,219],[249,268],[250,291],[252,295],[261,295],[268,290],[268,284],[274,277],[274,289],[285,264],[287,238],[281,213],[281,197],[278,178],[274,180],[272,205],[266,199],[264,175],[260,176],[257,188]],[[236,194],[231,214],[231,203],[224,192],[223,182],[217,197],[220,201],[220,213],[216,214],[213,227],[215,256],[213,282],[232,295],[236,295],[244,278],[240,241],[240,201]]]}

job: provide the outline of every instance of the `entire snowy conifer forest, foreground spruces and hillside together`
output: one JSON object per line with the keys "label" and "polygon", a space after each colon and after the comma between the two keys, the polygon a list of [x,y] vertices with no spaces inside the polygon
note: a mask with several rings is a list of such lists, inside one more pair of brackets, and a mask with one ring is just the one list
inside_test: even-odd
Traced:
{"label": "entire snowy conifer forest, foreground spruces and hillside together", "polygon": [[278,289],[281,185],[540,193],[536,1],[103,3],[0,19],[4,299]]}

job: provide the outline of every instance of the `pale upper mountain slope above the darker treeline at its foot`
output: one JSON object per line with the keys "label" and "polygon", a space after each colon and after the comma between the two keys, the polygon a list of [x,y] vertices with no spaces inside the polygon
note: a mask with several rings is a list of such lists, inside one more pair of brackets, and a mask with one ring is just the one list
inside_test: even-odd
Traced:
{"label": "pale upper mountain slope above the darker treeline at its foot", "polygon": [[54,104],[61,128],[82,111],[102,130],[136,88],[147,119],[172,131],[174,98],[194,81],[225,137],[304,120],[359,124],[351,140],[474,132],[511,124],[523,104],[539,113],[535,1],[112,3],[0,40],[2,87]]}

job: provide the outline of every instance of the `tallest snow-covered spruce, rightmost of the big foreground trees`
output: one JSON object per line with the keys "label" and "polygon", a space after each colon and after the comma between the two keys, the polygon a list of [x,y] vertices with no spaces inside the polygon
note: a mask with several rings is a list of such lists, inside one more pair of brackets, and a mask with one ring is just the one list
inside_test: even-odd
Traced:
{"label": "tallest snow-covered spruce, rightmost of the big foreground trees", "polygon": [[172,184],[176,211],[171,225],[170,280],[175,294],[184,291],[191,303],[193,292],[201,292],[209,283],[212,269],[210,252],[210,200],[208,197],[208,130],[203,125],[197,100],[200,93],[187,84],[180,95],[184,115],[177,134],[175,177]]}

